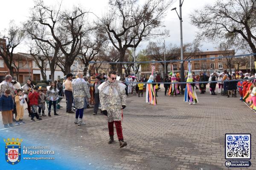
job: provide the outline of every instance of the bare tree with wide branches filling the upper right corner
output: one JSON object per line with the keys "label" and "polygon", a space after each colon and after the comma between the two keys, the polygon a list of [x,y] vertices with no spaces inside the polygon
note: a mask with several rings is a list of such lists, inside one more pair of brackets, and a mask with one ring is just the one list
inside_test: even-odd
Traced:
{"label": "bare tree with wide branches filling the upper right corner", "polygon": [[[256,53],[256,0],[216,0],[202,10],[195,10],[191,23],[199,36],[209,40],[245,41]],[[254,55],[256,61],[256,55]]]}

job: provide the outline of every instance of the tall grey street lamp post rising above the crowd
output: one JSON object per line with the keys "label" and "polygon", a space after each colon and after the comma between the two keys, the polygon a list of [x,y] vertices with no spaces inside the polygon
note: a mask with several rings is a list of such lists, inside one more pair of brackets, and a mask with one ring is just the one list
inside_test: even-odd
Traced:
{"label": "tall grey street lamp post rising above the crowd", "polygon": [[[184,0],[183,0],[184,1]],[[183,35],[182,35],[182,12],[181,12],[181,7],[183,4],[183,1],[181,3],[180,0],[180,15],[178,14],[176,8],[172,8],[172,10],[175,10],[179,19],[180,19],[180,81],[184,82],[185,81],[185,77],[184,77],[184,63],[183,63]],[[181,84],[181,94],[184,94],[183,88],[184,88],[185,84]]]}

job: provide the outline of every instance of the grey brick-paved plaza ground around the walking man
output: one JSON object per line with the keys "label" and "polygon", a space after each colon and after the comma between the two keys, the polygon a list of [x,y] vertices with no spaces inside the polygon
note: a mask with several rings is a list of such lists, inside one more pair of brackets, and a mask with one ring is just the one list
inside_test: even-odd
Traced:
{"label": "grey brick-paved plaza ground around the walking man", "polygon": [[98,170],[228,169],[224,165],[225,133],[251,133],[253,166],[247,169],[256,170],[256,113],[238,98],[197,94],[198,105],[188,105],[181,96],[164,96],[162,91],[157,106],[146,104],[144,97],[129,96],[122,122],[128,146],[122,149],[116,133],[116,142],[107,143],[105,116],[93,116],[91,109],[84,112],[85,126],[76,126],[75,115],[61,109],[60,116],[47,116],[41,122],[29,122],[26,114],[26,125],[7,130],[0,125],[0,133],[54,146],[70,160],[81,159],[76,168]]}

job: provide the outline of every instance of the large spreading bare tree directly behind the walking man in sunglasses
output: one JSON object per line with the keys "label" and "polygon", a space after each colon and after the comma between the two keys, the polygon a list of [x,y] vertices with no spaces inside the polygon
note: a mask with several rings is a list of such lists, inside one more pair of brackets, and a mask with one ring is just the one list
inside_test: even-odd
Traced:
{"label": "large spreading bare tree directly behind the walking man in sunglasses", "polygon": [[[101,19],[101,24],[108,34],[114,48],[119,52],[119,62],[125,59],[128,48],[136,48],[142,40],[157,35],[166,35],[159,31],[163,27],[163,18],[172,0],[145,0],[140,5],[138,0],[110,0],[110,11]],[[117,65],[117,72],[122,75],[122,64]]]}

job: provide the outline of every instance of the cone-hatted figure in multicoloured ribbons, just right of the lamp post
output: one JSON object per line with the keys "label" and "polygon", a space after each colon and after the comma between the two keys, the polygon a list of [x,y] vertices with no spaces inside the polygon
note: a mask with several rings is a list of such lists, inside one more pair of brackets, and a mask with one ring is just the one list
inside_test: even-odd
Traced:
{"label": "cone-hatted figure in multicoloured ribbons, just right of the lamp post", "polygon": [[[186,82],[195,82],[195,80],[193,79],[193,75],[190,72],[190,65],[189,65],[189,74],[186,79]],[[194,85],[195,84],[192,85],[191,83],[186,83],[186,88],[184,91],[184,102],[189,102],[189,105],[191,104],[195,105],[196,103],[198,103],[198,97],[194,91]]]}

